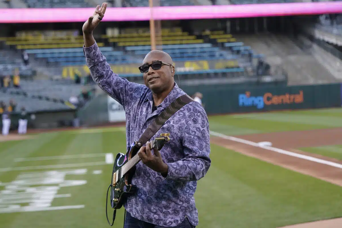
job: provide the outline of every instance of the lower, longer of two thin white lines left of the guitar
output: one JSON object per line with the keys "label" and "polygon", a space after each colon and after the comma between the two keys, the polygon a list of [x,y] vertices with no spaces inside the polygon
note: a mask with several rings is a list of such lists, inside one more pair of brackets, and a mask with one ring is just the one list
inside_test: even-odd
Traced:
{"label": "lower, longer of two thin white lines left of the guitar", "polygon": [[2,169],[0,169],[0,172],[22,171],[22,170],[61,169],[61,168],[85,167],[85,166],[96,166],[96,165],[106,165],[106,164],[107,164],[106,162],[100,161],[100,162],[86,162],[86,163],[60,164],[60,165],[36,165],[36,166],[2,168]]}

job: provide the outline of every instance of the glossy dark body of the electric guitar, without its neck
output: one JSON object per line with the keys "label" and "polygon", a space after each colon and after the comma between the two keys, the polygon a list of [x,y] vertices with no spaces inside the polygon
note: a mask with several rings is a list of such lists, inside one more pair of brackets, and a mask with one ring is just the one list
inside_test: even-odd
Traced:
{"label": "glossy dark body of the electric guitar, without its neck", "polygon": [[129,162],[129,160],[137,154],[139,149],[140,148],[136,146],[136,142],[134,142],[126,155],[118,153],[115,158],[113,174],[111,177],[113,188],[110,194],[110,204],[113,209],[120,209],[124,202],[126,202],[127,197],[136,192],[136,186],[131,184],[132,177],[136,169],[135,166],[133,166],[122,178],[118,178],[117,182],[114,181],[114,178],[115,175],[121,174],[120,168]]}

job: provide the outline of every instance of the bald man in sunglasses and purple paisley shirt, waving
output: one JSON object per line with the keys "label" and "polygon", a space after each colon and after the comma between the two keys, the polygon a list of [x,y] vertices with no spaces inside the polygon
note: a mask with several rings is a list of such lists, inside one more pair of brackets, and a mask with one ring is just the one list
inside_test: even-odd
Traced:
{"label": "bald man in sunglasses and purple paisley shirt, waving", "polygon": [[[106,6],[98,5],[84,23],[83,50],[93,80],[125,110],[126,144],[130,148],[155,118],[185,92],[174,81],[170,55],[162,51],[149,52],[139,67],[144,85],[129,82],[110,69],[92,35]],[[147,142],[138,152],[142,162],[136,165],[132,178],[137,192],[124,203],[125,228],[198,225],[194,194],[197,181],[211,164],[206,112],[198,102],[190,102],[172,115],[151,140],[160,133],[170,133],[170,142],[160,151],[152,153]]]}

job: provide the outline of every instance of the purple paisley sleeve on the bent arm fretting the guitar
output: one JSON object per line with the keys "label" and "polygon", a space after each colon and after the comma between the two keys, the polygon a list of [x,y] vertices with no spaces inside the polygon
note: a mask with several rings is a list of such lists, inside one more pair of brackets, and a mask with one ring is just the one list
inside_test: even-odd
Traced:
{"label": "purple paisley sleeve on the bent arm fretting the guitar", "polygon": [[200,111],[188,122],[183,134],[185,157],[168,165],[168,174],[163,179],[194,181],[206,175],[211,159],[210,134],[207,114]]}

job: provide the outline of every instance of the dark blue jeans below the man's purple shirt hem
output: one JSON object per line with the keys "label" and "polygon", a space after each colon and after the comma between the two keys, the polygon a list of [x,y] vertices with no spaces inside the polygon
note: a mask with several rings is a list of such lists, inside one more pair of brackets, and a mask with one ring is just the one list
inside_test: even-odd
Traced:
{"label": "dark blue jeans below the man's purple shirt hem", "polygon": [[[183,222],[172,228],[195,228],[190,224],[189,219],[185,218]],[[124,228],[167,228],[166,226],[158,226],[152,223],[147,223],[142,220],[133,218],[129,212],[126,211],[125,225]]]}

